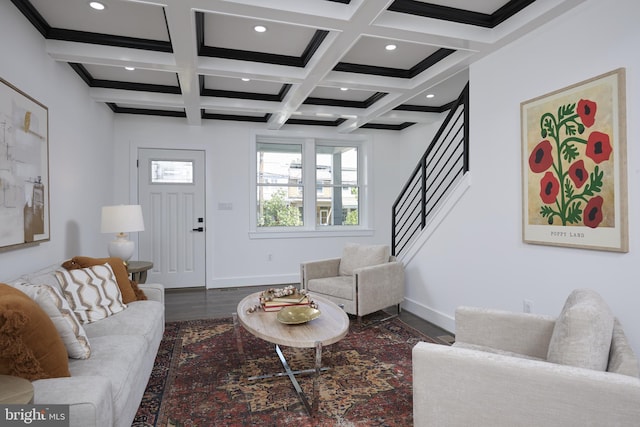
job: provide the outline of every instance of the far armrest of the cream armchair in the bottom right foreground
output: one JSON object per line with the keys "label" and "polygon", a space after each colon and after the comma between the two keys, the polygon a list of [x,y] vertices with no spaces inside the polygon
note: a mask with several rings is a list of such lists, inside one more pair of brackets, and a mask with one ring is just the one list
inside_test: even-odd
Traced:
{"label": "far armrest of the cream armchair in the bottom right foreground", "polygon": [[456,342],[546,359],[555,318],[477,307],[456,309]]}

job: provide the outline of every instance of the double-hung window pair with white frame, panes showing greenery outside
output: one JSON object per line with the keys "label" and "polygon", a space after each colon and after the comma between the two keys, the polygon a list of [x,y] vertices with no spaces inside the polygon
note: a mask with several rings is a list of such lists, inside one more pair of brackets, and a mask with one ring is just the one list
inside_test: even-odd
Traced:
{"label": "double-hung window pair with white frame, panes showing greenery outside", "polygon": [[252,236],[370,234],[366,152],[364,140],[257,136]]}

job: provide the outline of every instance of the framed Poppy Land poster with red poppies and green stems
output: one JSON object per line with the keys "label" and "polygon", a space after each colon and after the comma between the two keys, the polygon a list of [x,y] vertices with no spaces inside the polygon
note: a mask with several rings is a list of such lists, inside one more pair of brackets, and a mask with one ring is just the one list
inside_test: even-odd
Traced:
{"label": "framed Poppy Land poster with red poppies and green stems", "polygon": [[628,252],[625,70],[522,102],[523,241]]}

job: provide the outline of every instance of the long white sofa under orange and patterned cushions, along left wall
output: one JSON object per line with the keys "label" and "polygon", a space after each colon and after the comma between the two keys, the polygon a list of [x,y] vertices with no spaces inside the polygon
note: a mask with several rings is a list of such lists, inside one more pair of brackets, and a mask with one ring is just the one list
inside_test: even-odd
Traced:
{"label": "long white sofa under orange and patterned cushions, along left wall", "polygon": [[[60,264],[9,282],[56,286]],[[139,284],[145,301],[83,325],[91,346],[87,359],[69,359],[70,377],[33,381],[34,404],[69,406],[70,426],[131,426],[164,333],[164,288]]]}

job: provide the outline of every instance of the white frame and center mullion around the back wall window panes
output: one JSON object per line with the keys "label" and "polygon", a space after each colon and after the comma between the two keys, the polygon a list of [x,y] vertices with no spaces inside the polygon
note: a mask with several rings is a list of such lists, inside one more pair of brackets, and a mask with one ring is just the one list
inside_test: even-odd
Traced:
{"label": "white frame and center mullion around the back wall window panes", "polygon": [[[258,227],[258,144],[302,145],[303,225],[296,227]],[[358,153],[358,225],[320,225],[316,223],[316,146],[356,147]],[[296,136],[256,133],[251,148],[251,179],[249,237],[294,238],[328,236],[372,236],[373,197],[371,183],[371,143],[365,137],[353,136]]]}

